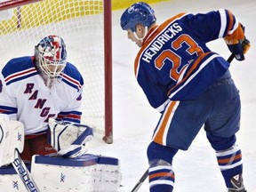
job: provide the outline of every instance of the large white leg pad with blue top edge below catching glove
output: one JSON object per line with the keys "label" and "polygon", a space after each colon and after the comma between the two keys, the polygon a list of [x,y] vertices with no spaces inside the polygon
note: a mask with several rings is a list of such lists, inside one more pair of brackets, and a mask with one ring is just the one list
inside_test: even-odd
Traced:
{"label": "large white leg pad with blue top edge below catching glove", "polygon": [[33,156],[31,175],[40,191],[114,192],[120,186],[119,160],[86,154],[77,158]]}

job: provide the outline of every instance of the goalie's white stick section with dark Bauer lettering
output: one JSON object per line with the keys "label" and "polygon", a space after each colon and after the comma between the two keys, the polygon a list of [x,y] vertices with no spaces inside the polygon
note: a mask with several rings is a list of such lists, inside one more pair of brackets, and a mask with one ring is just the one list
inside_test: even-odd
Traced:
{"label": "goalie's white stick section with dark Bauer lettering", "polygon": [[14,161],[12,166],[15,171],[19,174],[20,180],[22,180],[24,186],[27,188],[28,192],[39,192],[36,182],[32,179],[28,168],[24,164],[23,160],[20,158],[19,151],[17,148],[14,150]]}

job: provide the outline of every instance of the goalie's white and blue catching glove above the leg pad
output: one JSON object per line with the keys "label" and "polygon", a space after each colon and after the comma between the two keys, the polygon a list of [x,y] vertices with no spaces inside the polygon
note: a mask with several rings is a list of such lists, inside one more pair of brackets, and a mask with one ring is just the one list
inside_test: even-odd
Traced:
{"label": "goalie's white and blue catching glove above the leg pad", "polygon": [[84,124],[70,124],[49,118],[51,136],[48,137],[57,154],[74,158],[82,156],[87,149],[85,143],[92,140],[92,128]]}

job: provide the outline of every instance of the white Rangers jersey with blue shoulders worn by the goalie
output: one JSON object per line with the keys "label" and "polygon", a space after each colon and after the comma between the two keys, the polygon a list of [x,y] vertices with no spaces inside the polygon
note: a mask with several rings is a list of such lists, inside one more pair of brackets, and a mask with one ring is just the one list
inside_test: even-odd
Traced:
{"label": "white Rangers jersey with blue shoulders worn by the goalie", "polygon": [[49,117],[80,124],[83,77],[67,63],[54,81],[45,86],[33,57],[10,60],[0,74],[0,113],[22,122],[25,135],[45,132]]}

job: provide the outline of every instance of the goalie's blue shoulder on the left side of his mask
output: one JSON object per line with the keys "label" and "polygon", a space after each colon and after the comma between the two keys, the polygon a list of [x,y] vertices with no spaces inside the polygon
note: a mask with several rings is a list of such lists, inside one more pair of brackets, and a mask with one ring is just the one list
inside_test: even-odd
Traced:
{"label": "goalie's blue shoulder on the left side of his mask", "polygon": [[2,69],[2,74],[4,77],[19,75],[27,73],[28,71],[36,72],[36,68],[33,64],[33,58],[30,56],[14,58],[9,60],[4,68]]}

